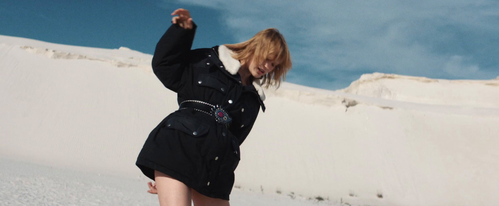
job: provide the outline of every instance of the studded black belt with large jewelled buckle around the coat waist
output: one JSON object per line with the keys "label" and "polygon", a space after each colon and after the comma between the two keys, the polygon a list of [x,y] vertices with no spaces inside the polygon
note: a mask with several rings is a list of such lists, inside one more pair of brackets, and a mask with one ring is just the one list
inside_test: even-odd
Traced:
{"label": "studded black belt with large jewelled buckle around the coat waist", "polygon": [[232,121],[232,118],[231,116],[229,116],[229,113],[220,105],[213,105],[198,100],[187,100],[179,104],[179,110],[186,108],[193,108],[194,110],[210,114],[215,117],[215,120],[218,123],[223,124],[227,128],[229,128],[229,125],[231,124]]}

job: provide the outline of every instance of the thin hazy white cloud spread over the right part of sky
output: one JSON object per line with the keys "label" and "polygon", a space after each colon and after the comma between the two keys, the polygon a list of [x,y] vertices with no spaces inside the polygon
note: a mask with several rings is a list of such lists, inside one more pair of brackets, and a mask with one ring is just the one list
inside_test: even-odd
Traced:
{"label": "thin hazy white cloud spread over the right part of sky", "polygon": [[[493,0],[178,2],[221,10],[239,41],[278,28],[302,72],[357,72],[344,77],[353,78],[348,82],[366,71],[450,79],[499,75],[499,61],[484,58],[495,55],[484,51],[499,54],[499,43],[488,44],[499,32],[499,5]],[[303,81],[294,76],[290,79]]]}

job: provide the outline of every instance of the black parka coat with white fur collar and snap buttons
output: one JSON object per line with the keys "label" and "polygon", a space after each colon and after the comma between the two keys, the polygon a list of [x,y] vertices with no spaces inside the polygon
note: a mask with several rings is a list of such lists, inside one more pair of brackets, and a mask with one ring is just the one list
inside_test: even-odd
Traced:
{"label": "black parka coat with white fur collar and snap buttons", "polygon": [[229,200],[239,146],[258,115],[265,110],[259,80],[244,86],[241,64],[225,46],[191,50],[196,25],[173,24],[156,45],[153,71],[163,85],[178,94],[177,101],[198,100],[221,105],[233,118],[230,127],[195,109],[179,109],[149,134],[136,165],[154,180],[165,173],[197,192]]}

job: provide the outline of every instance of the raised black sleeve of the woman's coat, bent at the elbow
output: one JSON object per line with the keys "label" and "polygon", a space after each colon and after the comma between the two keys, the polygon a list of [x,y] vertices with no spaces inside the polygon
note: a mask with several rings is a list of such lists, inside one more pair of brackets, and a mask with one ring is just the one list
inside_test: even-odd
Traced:
{"label": "raised black sleeve of the woman's coat, bent at the elbow", "polygon": [[172,24],[156,44],[152,60],[154,74],[166,88],[174,92],[178,92],[182,86],[181,78],[189,65],[188,56],[196,28],[194,22],[192,29]]}

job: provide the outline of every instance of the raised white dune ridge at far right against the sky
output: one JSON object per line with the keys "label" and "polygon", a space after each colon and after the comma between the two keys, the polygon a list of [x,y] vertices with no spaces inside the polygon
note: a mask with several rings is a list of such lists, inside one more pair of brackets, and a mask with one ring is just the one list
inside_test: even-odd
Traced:
{"label": "raised white dune ridge at far right against the sky", "polygon": [[438,80],[374,73],[362,75],[348,88],[340,91],[412,103],[491,108],[499,106],[497,79]]}

